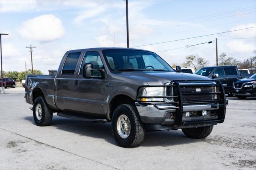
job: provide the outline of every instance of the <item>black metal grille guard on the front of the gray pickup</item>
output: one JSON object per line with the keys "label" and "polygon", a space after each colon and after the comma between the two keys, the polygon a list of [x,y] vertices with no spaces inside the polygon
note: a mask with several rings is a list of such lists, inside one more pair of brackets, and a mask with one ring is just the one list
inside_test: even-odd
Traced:
{"label": "black metal grille guard on the front of the gray pickup", "polygon": [[[188,84],[186,85],[180,85],[180,83],[185,83],[187,82]],[[197,82],[196,84],[189,84],[191,82]],[[202,82],[202,84],[200,84]],[[203,82],[215,82],[216,84],[203,84]],[[219,94],[220,98],[219,99],[212,99],[212,100],[197,100],[197,101],[190,101],[189,103],[211,103],[215,102],[219,104],[219,110],[218,110],[218,120],[212,120],[212,121],[191,121],[191,122],[182,122],[182,109],[184,104],[189,104],[188,102],[184,102],[182,99],[182,91],[181,91],[181,86],[182,87],[193,87],[193,86],[204,86],[204,87],[219,87],[219,92],[211,92],[211,93],[192,93],[193,95],[198,95],[198,94]],[[173,87],[173,94],[172,96],[140,96],[139,94],[139,89],[142,87]],[[188,95],[190,93],[186,93]],[[145,98],[145,99],[150,99],[150,98],[174,98],[174,102],[143,102],[140,101],[139,99]],[[226,97],[225,97],[225,91],[223,88],[223,85],[220,81],[218,80],[175,80],[170,82],[169,85],[144,85],[140,86],[137,90],[137,102],[142,104],[142,105],[154,105],[157,109],[163,110],[163,109],[175,109],[175,120],[174,120],[174,127],[179,127],[181,125],[192,125],[192,124],[202,124],[202,123],[223,123],[225,119],[225,114],[226,114]],[[165,107],[165,108],[160,108],[158,105],[166,105],[166,104],[172,104],[174,107]]]}

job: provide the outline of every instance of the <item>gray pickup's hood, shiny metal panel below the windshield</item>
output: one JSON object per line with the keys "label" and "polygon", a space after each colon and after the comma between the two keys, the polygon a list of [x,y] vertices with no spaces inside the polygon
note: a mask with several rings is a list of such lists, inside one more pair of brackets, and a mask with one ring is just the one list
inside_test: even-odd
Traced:
{"label": "gray pickup's hood, shiny metal panel below the windshield", "polygon": [[148,85],[162,85],[174,80],[211,80],[202,75],[162,71],[124,71],[120,76],[145,81]]}

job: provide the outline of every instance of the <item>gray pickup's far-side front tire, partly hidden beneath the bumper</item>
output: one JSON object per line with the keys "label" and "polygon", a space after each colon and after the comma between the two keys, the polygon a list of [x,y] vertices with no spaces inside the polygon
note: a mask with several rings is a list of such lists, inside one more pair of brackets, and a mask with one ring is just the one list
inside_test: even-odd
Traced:
{"label": "gray pickup's far-side front tire, partly hidden beneath the bumper", "polygon": [[182,132],[189,138],[201,139],[206,138],[212,132],[213,126],[198,128],[183,128]]}

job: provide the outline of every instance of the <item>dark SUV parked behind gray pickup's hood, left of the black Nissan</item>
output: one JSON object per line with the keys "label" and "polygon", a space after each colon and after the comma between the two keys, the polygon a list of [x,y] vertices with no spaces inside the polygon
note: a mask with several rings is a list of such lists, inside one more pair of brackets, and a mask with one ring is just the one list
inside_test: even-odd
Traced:
{"label": "dark SUV parked behind gray pickup's hood, left of the black Nissan", "polygon": [[233,82],[241,78],[238,68],[232,65],[203,67],[194,74],[219,80],[224,85],[225,93],[229,95],[232,95]]}

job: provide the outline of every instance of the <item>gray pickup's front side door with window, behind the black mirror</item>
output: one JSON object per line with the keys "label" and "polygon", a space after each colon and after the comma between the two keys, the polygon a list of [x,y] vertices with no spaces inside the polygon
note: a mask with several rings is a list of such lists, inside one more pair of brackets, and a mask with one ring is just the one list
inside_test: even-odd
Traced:
{"label": "gray pickup's front side door with window, behind the black mirror", "polygon": [[[106,80],[99,78],[84,78],[82,68],[85,63],[92,63],[93,69],[104,68],[100,53],[87,51],[82,59],[80,68],[77,70],[75,79],[74,95],[76,99],[74,106],[77,113],[90,117],[102,117],[104,114],[103,104],[106,101]],[[94,76],[100,75],[99,71],[93,71]]]}

